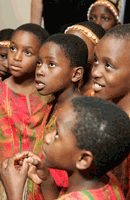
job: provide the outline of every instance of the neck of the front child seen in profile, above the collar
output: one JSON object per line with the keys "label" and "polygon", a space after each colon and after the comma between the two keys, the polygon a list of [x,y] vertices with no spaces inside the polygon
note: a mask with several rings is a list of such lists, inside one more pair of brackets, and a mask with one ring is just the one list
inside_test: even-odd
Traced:
{"label": "neck of the front child seen in profile, above the collar", "polygon": [[107,175],[99,178],[92,178],[87,175],[86,171],[80,173],[79,171],[69,174],[69,188],[66,193],[100,189],[109,182]]}

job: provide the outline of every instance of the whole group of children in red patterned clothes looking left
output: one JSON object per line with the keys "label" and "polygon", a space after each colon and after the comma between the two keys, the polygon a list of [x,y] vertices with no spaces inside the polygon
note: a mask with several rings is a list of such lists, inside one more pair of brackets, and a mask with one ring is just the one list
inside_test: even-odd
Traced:
{"label": "whole group of children in red patterned clothes looking left", "polygon": [[130,25],[118,16],[98,0],[64,33],[29,23],[1,40],[1,199],[130,198]]}

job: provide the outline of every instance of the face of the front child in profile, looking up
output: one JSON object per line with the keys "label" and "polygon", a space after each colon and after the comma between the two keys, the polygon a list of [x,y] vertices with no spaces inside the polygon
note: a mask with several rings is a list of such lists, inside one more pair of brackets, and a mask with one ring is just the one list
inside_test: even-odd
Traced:
{"label": "face of the front child in profile, looking up", "polygon": [[45,164],[51,168],[74,170],[77,155],[76,138],[72,133],[76,113],[72,104],[67,104],[57,115],[56,131],[47,134],[43,146]]}

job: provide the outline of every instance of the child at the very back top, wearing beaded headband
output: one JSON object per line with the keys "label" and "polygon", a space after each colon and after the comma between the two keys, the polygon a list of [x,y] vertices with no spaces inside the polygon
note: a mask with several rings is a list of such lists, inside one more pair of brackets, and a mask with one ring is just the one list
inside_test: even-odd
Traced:
{"label": "child at the very back top, wearing beaded headband", "polygon": [[88,9],[87,19],[101,25],[105,31],[120,24],[118,1],[97,0]]}

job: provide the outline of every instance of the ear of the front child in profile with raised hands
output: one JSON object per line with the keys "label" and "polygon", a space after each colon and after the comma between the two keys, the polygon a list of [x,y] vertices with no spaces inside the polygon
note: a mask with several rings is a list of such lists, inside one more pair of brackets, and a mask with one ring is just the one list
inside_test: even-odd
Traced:
{"label": "ear of the front child in profile with raised hands", "polygon": [[93,161],[93,154],[90,151],[81,151],[78,161],[76,162],[76,168],[79,170],[85,170],[90,167]]}

